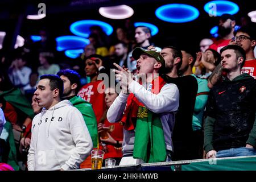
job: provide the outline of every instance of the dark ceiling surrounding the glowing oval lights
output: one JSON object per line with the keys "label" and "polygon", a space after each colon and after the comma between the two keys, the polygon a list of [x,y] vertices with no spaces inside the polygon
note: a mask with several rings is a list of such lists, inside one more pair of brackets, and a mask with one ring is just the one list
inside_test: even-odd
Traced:
{"label": "dark ceiling surrounding the glowing oval lights", "polygon": [[[29,20],[24,18],[20,25],[19,34],[28,36],[38,34],[40,28],[47,28],[52,38],[62,35],[72,35],[69,31],[71,23],[82,19],[102,20],[111,24],[114,28],[124,24],[125,20],[113,20],[104,18],[98,13],[102,6],[114,6],[126,4],[134,9],[132,22],[148,22],[155,24],[159,32],[152,39],[156,45],[188,46],[196,51],[200,39],[210,37],[209,30],[217,24],[216,17],[210,17],[203,9],[207,0],[68,0],[68,1],[14,1],[1,0],[0,2],[0,31],[8,30],[11,23],[15,23],[20,14],[38,10],[38,3],[46,4],[46,18],[41,20]],[[255,10],[252,1],[232,0],[240,7],[235,15],[238,24],[243,15]],[[186,3],[196,7],[200,11],[199,18],[187,23],[168,23],[156,18],[155,10],[168,3]]]}

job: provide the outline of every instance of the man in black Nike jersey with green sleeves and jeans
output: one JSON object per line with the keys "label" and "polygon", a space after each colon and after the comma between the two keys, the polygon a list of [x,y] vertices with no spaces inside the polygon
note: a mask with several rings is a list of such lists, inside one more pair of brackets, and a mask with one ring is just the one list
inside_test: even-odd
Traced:
{"label": "man in black Nike jersey with green sleeves and jeans", "polygon": [[245,51],[229,45],[221,49],[221,66],[227,76],[210,90],[205,119],[207,158],[256,155],[256,82],[241,75]]}

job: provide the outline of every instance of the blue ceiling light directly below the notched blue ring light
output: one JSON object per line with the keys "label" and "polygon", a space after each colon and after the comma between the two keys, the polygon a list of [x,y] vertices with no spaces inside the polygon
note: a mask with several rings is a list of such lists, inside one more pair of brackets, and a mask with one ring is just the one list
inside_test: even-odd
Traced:
{"label": "blue ceiling light directly below the notched blue ring light", "polygon": [[79,36],[60,36],[56,38],[57,51],[65,51],[67,49],[83,49],[90,43],[89,39],[80,38]]}

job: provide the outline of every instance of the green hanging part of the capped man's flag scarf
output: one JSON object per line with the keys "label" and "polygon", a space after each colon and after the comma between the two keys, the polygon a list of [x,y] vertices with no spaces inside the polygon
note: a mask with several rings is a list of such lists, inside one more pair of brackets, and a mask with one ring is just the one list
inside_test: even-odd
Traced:
{"label": "green hanging part of the capped man's flag scarf", "polygon": [[133,158],[146,163],[165,162],[166,144],[162,123],[157,114],[139,106],[135,127]]}

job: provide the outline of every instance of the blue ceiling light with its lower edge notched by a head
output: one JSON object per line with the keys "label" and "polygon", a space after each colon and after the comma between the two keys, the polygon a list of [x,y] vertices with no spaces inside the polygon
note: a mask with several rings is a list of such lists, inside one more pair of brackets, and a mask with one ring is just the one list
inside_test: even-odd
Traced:
{"label": "blue ceiling light with its lower edge notched by a head", "polygon": [[88,38],[90,35],[91,26],[100,26],[106,35],[110,35],[113,32],[113,27],[110,26],[110,24],[101,22],[99,20],[80,20],[72,23],[70,26],[70,31],[77,36]]}

